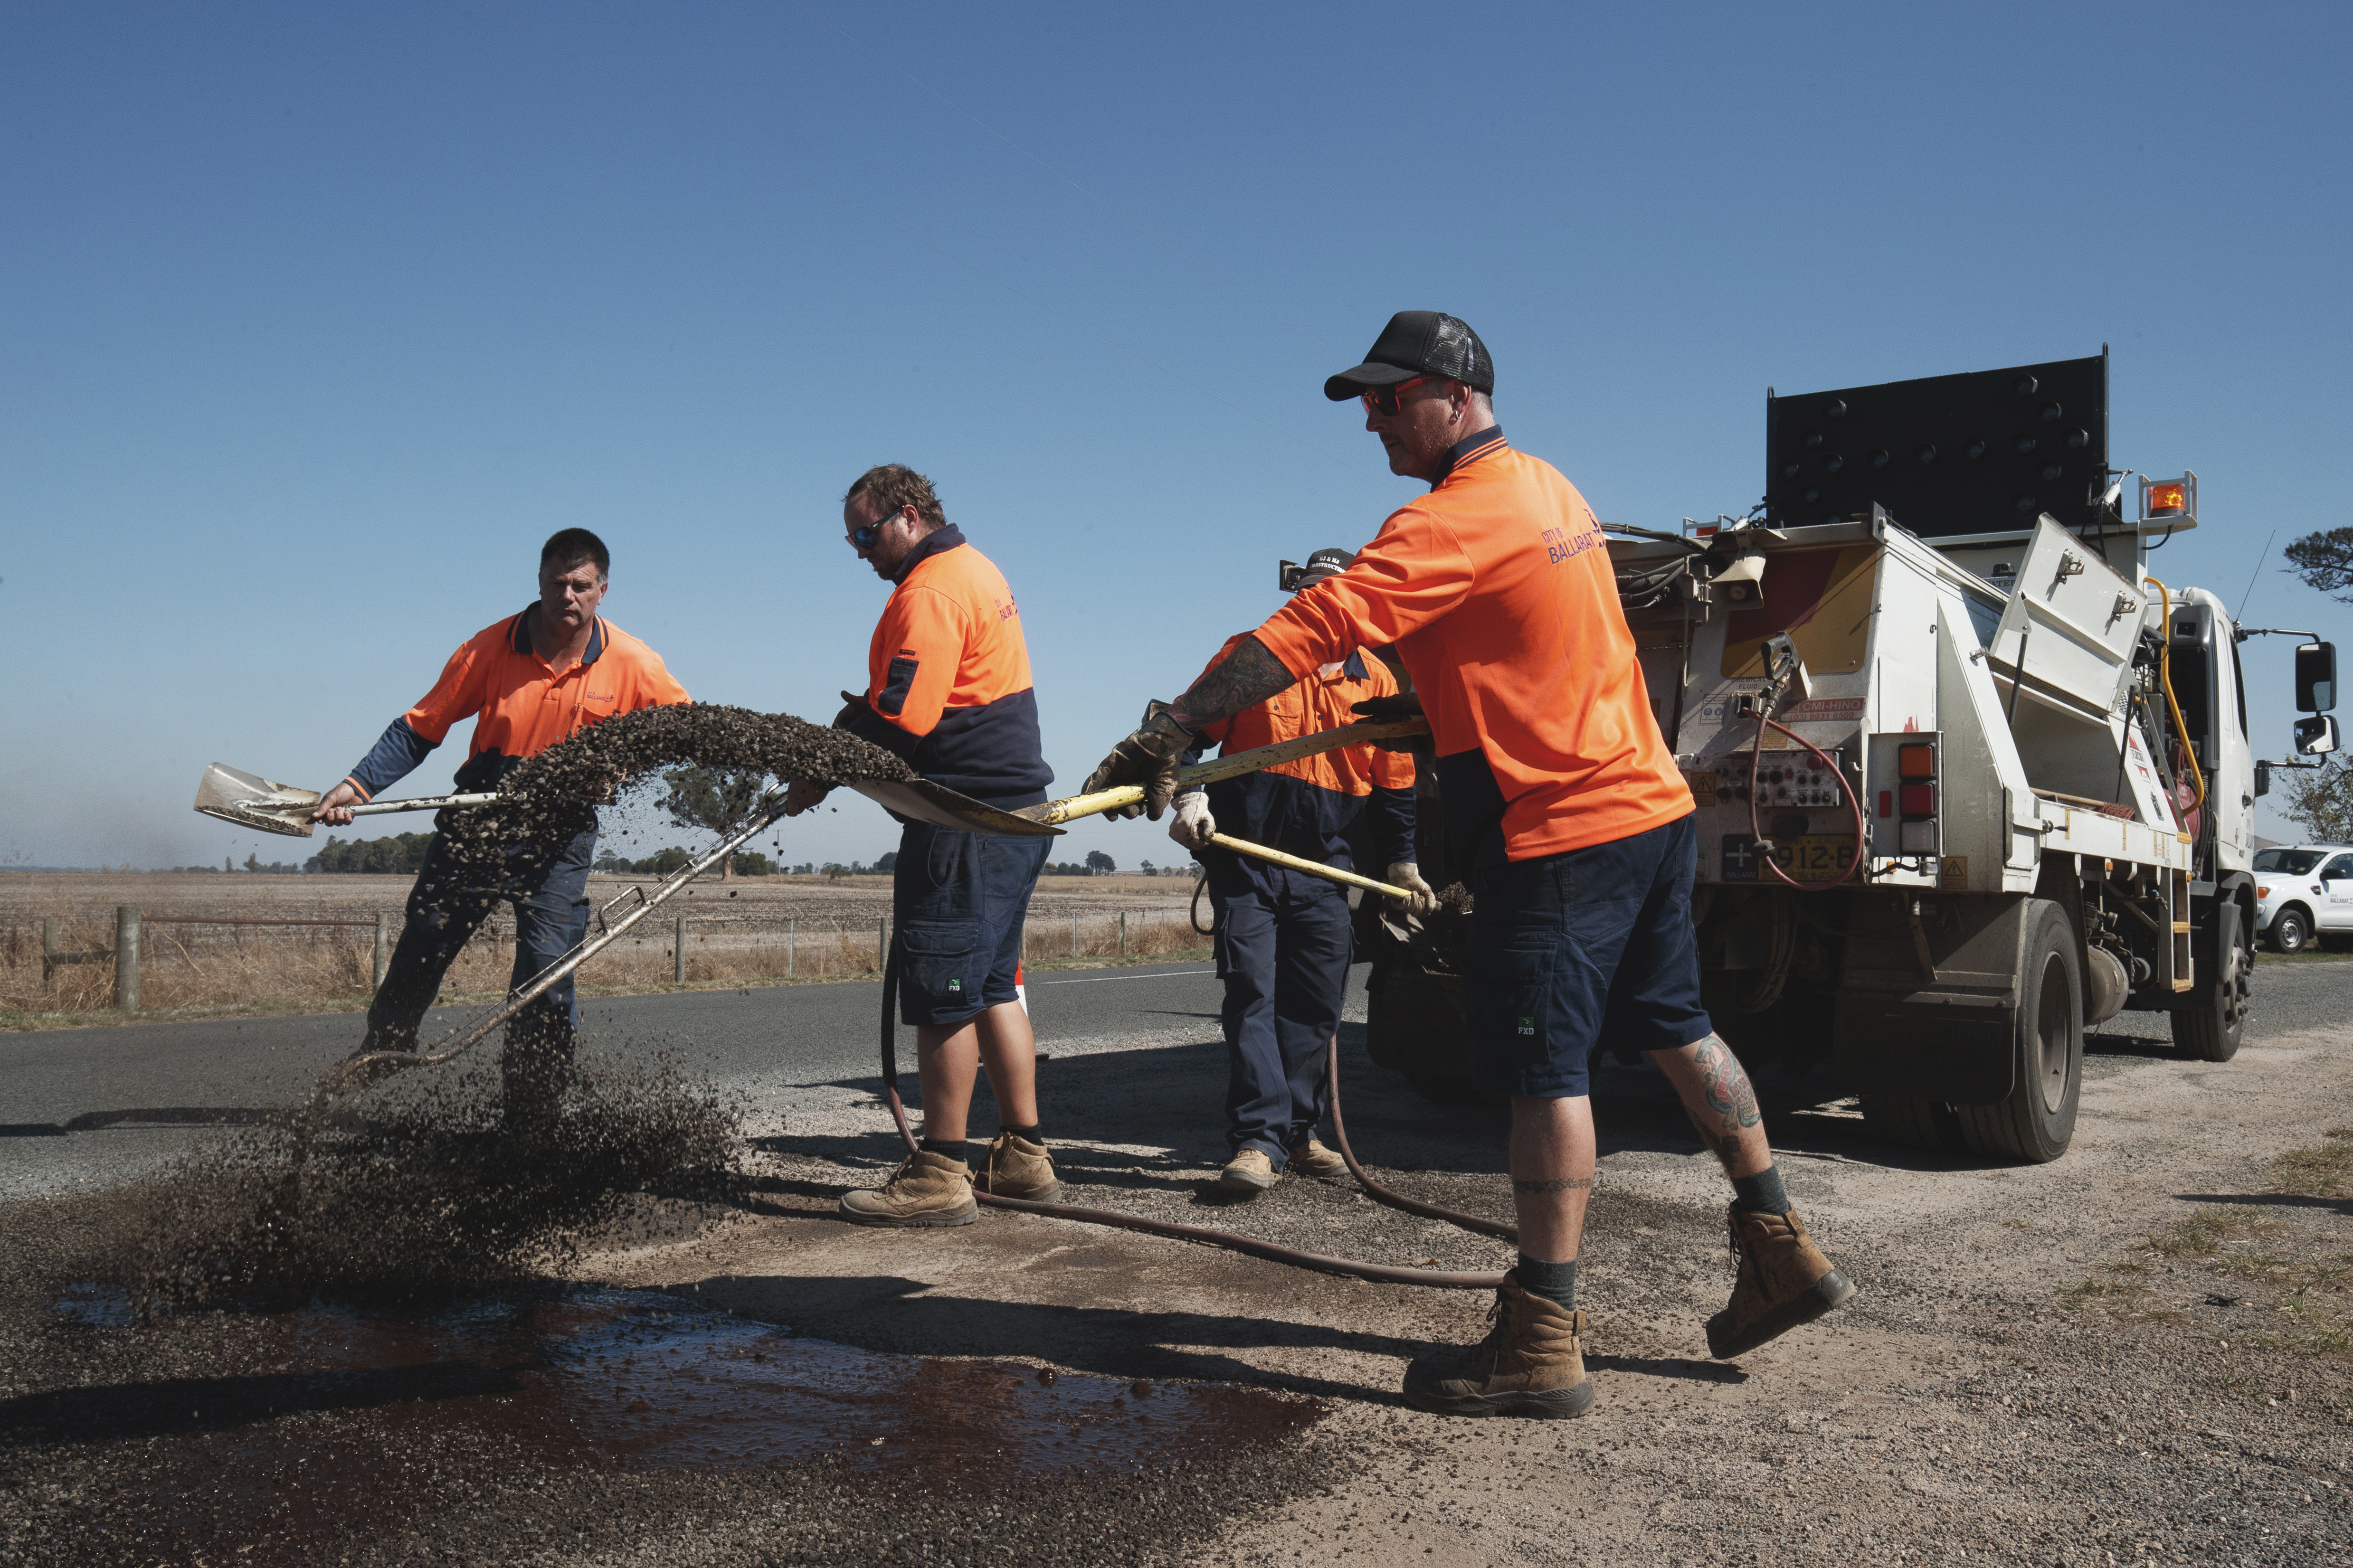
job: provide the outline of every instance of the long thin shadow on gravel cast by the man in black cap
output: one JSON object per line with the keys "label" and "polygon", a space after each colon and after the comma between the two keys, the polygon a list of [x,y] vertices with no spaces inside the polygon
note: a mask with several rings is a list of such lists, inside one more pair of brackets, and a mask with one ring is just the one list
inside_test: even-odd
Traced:
{"label": "long thin shadow on gravel cast by the man in black cap", "polygon": [[[1061,1255],[1085,1267],[1085,1253]],[[1096,1267],[1120,1267],[1104,1253]],[[1252,1316],[1242,1312],[1136,1312],[1061,1302],[1007,1302],[934,1291],[899,1274],[732,1274],[704,1279],[696,1300],[739,1316],[791,1324],[805,1333],[875,1354],[906,1356],[1024,1356],[1104,1378],[1193,1378],[1402,1406],[1395,1378],[1379,1385],[1285,1373],[1245,1352],[1341,1352],[1381,1356],[1402,1375],[1405,1361],[1435,1345],[1391,1333]],[[1475,1338],[1478,1314],[1464,1312],[1459,1342]],[[1449,1340],[1454,1342],[1454,1340]],[[1678,1378],[1739,1380],[1734,1368],[1711,1368],[1687,1356],[1607,1356],[1612,1371]],[[1725,1373],[1732,1373],[1729,1378]]]}

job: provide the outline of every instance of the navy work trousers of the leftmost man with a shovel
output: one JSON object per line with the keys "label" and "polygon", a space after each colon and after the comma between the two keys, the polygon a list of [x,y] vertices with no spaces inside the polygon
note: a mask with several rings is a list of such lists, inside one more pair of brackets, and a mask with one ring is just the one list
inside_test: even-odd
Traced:
{"label": "navy work trousers of the leftmost man with a shovel", "polygon": [[[501,903],[515,905],[515,973],[508,990],[529,985],[548,964],[572,952],[588,936],[593,856],[595,827],[553,851],[513,846],[452,853],[449,837],[435,837],[424,870],[416,872],[416,886],[409,889],[407,926],[367,1009],[365,1048],[416,1048],[416,1030],[440,994],[442,976]],[[576,1030],[579,1001],[572,997],[572,976],[508,1020],[499,1077],[511,1114],[553,1112],[565,1079],[572,1077]]]}

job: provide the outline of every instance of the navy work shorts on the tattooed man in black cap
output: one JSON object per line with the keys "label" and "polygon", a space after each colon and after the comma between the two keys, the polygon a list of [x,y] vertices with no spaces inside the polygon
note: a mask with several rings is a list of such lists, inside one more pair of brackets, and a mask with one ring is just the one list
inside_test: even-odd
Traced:
{"label": "navy work shorts on the tattooed man in black cap", "polygon": [[1464,999],[1480,1088],[1581,1095],[1602,1041],[1678,1051],[1715,1032],[1699,1004],[1697,858],[1685,816],[1473,872]]}

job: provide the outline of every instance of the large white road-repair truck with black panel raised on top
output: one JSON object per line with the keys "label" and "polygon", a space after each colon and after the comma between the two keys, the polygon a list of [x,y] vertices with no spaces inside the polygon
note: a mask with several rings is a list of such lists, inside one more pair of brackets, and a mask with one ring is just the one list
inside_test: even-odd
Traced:
{"label": "large white road-repair truck with black panel raised on top", "polygon": [[[2085,1027],[2122,1009],[2169,1013],[2188,1058],[2238,1051],[2266,788],[2245,632],[2151,576],[2198,482],[2144,477],[2122,517],[2106,390],[2101,353],[1767,393],[1760,508],[1609,545],[1699,802],[1711,1016],[1753,1063],[1828,1058],[1889,1143],[2057,1159]],[[2334,703],[2334,649],[2297,675],[2299,708]],[[2297,724],[2304,752],[2334,738]],[[1445,1095],[1461,931],[1388,936],[1372,1056]]]}

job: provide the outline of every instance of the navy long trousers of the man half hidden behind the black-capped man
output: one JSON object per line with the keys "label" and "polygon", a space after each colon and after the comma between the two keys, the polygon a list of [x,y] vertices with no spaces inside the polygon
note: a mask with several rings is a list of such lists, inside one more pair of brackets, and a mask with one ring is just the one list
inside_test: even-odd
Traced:
{"label": "navy long trousers of the man half hidden behind the black-capped man", "polygon": [[1339,1030],[1355,957],[1348,896],[1275,865],[1238,875],[1219,865],[1233,860],[1221,849],[1205,849],[1200,860],[1226,983],[1226,1145],[1235,1154],[1264,1150],[1280,1171],[1329,1110],[1325,1046]]}

